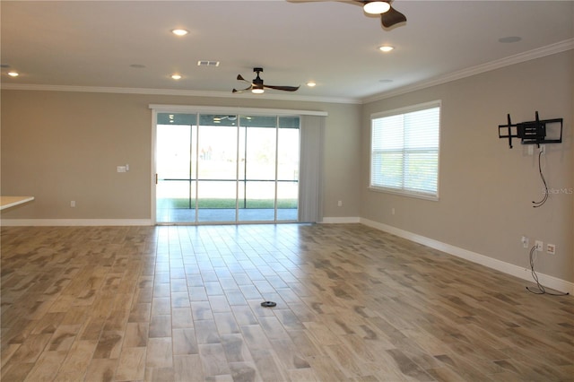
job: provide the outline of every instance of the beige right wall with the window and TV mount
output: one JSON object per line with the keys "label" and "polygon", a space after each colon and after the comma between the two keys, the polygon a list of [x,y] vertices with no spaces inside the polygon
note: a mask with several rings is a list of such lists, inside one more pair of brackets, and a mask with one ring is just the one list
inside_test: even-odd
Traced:
{"label": "beige right wall with the window and TV mount", "polygon": [[[533,208],[543,196],[537,157],[498,138],[508,113],[515,123],[533,120],[536,110],[564,118],[563,143],[546,145],[544,177],[555,190],[572,190],[573,68],[570,50],[364,105],[361,218],[525,268],[520,238],[541,239],[558,254],[544,248],[537,270],[574,281],[574,195],[552,194]],[[439,202],[369,191],[370,114],[431,100],[442,100]]]}

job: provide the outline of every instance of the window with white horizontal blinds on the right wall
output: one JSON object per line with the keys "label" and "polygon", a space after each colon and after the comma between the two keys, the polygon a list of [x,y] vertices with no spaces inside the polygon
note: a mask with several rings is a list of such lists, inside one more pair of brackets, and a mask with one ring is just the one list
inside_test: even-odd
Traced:
{"label": "window with white horizontal blinds on the right wall", "polygon": [[370,188],[439,198],[440,101],[370,117]]}

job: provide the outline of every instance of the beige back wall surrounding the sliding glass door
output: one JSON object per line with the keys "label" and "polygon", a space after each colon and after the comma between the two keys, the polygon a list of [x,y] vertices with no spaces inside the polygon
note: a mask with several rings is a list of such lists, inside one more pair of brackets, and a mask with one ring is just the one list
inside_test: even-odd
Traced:
{"label": "beige back wall surrounding the sliding glass door", "polygon": [[1,101],[2,195],[36,198],[3,219],[150,219],[150,104],[326,111],[324,213],[359,215],[361,105],[5,90]]}

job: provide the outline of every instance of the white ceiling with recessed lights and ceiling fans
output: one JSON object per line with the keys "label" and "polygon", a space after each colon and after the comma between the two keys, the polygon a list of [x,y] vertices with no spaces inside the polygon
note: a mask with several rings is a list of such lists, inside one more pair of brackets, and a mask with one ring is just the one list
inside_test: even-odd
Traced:
{"label": "white ceiling with recessed lights and ceiling fans", "polygon": [[[393,6],[407,22],[385,30],[349,2],[2,0],[2,86],[253,97],[230,91],[247,85],[237,74],[251,80],[262,66],[265,84],[301,88],[259,97],[364,101],[574,48],[574,1]],[[178,38],[174,28],[190,33]],[[396,49],[381,53],[384,44]]]}

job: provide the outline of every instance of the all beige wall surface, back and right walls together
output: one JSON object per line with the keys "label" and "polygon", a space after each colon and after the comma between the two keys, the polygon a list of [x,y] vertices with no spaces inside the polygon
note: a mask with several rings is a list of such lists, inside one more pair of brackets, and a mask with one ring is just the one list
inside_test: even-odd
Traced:
{"label": "all beige wall surface, back and right walls together", "polygon": [[[2,91],[2,195],[36,200],[3,219],[150,219],[152,111],[149,104],[322,110],[326,119],[324,216],[361,217],[528,267],[520,237],[558,246],[537,270],[574,281],[574,195],[542,197],[536,157],[510,150],[497,126],[564,118],[564,142],[547,146],[553,189],[574,181],[574,51],[365,105],[64,91]],[[371,113],[442,100],[439,202],[370,192]],[[117,165],[130,164],[126,174]],[[77,206],[70,207],[75,200]],[[337,207],[337,201],[344,202]],[[395,208],[396,213],[391,213]]]}

